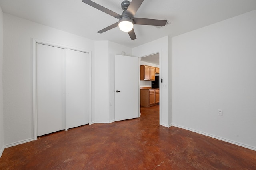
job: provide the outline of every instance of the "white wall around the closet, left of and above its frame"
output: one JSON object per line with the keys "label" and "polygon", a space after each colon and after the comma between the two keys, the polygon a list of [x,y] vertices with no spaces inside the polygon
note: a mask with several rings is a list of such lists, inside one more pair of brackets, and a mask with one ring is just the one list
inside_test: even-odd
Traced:
{"label": "white wall around the closet, left of and above its frame", "polygon": [[32,38],[92,51],[94,62],[92,40],[4,14],[3,97],[6,147],[33,138]]}

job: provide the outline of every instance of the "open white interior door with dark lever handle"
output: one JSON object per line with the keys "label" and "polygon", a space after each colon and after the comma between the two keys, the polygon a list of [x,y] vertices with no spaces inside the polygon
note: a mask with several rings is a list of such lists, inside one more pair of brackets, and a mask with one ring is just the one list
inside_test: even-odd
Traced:
{"label": "open white interior door with dark lever handle", "polygon": [[138,85],[138,58],[115,55],[115,121],[139,117]]}

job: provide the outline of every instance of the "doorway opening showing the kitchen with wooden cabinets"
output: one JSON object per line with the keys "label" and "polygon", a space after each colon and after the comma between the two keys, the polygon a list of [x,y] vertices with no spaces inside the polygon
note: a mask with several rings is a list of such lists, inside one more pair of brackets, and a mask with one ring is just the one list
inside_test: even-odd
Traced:
{"label": "doorway opening showing the kitchen with wooden cabinets", "polygon": [[[140,112],[143,108],[160,106],[160,59],[159,53],[141,57],[140,65]],[[158,106],[158,107],[156,107]],[[147,109],[147,110],[148,110]]]}

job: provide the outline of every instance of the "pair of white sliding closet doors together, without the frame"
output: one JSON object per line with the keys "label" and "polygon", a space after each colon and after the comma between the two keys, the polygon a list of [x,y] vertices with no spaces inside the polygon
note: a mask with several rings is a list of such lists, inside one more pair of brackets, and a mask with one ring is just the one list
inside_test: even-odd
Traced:
{"label": "pair of white sliding closet doors together, without the frame", "polygon": [[37,44],[37,136],[89,123],[90,55]]}

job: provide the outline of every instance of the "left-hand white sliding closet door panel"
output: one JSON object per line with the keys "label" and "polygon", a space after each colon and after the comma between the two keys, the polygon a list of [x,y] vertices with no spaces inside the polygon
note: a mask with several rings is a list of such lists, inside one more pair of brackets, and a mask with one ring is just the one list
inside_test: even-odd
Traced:
{"label": "left-hand white sliding closet door panel", "polygon": [[65,128],[65,49],[37,44],[37,136]]}

